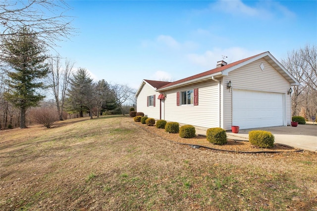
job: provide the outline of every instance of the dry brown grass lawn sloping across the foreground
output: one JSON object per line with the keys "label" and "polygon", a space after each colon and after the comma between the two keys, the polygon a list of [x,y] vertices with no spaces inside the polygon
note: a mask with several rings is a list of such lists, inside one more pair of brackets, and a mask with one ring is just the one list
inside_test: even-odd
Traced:
{"label": "dry brown grass lawn sloping across the foreground", "polygon": [[121,116],[0,133],[4,211],[317,210],[313,152],[193,149]]}

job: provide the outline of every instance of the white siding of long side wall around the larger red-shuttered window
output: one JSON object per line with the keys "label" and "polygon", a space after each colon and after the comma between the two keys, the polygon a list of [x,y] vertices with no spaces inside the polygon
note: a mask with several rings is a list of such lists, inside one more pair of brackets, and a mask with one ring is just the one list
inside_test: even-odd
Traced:
{"label": "white siding of long side wall around the larger red-shuttered window", "polygon": [[[177,106],[177,92],[198,88],[198,106]],[[218,84],[214,81],[166,92],[165,120],[199,127],[218,127]]]}

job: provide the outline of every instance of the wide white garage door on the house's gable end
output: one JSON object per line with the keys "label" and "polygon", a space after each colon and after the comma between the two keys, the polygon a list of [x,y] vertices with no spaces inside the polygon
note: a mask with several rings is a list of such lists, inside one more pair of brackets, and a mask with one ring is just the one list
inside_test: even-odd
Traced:
{"label": "wide white garage door on the house's gable end", "polygon": [[232,125],[240,129],[282,126],[283,108],[280,93],[234,90]]}

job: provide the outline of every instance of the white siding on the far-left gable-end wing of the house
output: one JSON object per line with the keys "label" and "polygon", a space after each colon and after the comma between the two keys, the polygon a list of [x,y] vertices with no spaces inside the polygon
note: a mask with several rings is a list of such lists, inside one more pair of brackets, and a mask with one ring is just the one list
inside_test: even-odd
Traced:
{"label": "white siding on the far-left gable-end wing of the house", "polygon": [[159,93],[149,84],[145,83],[137,97],[137,111],[143,112],[151,118],[159,119],[159,100],[156,99],[156,106],[148,106],[149,96],[159,97]]}

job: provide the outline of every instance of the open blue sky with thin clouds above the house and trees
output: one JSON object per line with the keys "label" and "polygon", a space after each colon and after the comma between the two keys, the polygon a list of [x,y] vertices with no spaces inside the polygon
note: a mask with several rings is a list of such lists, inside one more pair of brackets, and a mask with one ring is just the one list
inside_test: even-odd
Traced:
{"label": "open blue sky with thin clouds above the house and trees", "polygon": [[56,51],[95,80],[138,88],[317,44],[317,1],[66,1],[78,35]]}

